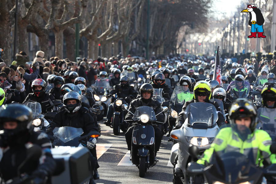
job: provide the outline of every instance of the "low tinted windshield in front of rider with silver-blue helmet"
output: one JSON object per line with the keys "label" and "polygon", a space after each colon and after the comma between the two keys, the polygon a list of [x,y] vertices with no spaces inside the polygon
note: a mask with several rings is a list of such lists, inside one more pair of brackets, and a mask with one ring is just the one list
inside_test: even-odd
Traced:
{"label": "low tinted windshield in front of rider with silver-blue helmet", "polygon": [[70,140],[75,139],[83,134],[82,128],[74,128],[74,127],[56,127],[53,130],[54,136],[61,140],[63,143],[66,143]]}

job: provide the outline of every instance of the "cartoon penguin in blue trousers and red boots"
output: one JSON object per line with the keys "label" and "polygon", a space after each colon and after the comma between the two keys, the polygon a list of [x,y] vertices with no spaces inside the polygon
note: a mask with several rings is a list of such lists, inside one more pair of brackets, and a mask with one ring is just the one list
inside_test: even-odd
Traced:
{"label": "cartoon penguin in blue trousers and red boots", "polygon": [[247,9],[242,10],[242,12],[248,12],[250,17],[248,21],[248,25],[251,26],[251,35],[248,36],[248,38],[265,38],[266,36],[263,35],[263,23],[264,18],[261,10],[257,8],[256,5],[250,4],[247,5]]}

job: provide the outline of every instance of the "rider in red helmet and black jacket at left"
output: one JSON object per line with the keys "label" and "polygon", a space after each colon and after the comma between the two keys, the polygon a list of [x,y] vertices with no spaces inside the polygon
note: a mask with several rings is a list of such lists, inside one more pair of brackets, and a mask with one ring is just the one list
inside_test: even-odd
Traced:
{"label": "rider in red helmet and black jacket at left", "polygon": [[43,79],[35,79],[32,82],[32,90],[33,93],[29,93],[22,104],[27,105],[29,102],[38,102],[41,105],[42,113],[46,113],[47,108],[56,101],[52,94],[47,93],[46,82]]}

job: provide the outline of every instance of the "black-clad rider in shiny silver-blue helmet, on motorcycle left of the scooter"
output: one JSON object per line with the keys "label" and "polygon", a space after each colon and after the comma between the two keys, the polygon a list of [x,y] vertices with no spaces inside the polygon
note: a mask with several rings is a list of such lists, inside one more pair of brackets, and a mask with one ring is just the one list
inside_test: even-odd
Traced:
{"label": "black-clad rider in shiny silver-blue helmet, on motorcycle left of the scooter", "polygon": [[[98,132],[97,123],[94,122],[94,118],[88,113],[88,109],[82,107],[81,96],[77,92],[70,91],[63,96],[63,107],[64,109],[56,114],[52,129],[55,127],[71,126],[74,128],[82,128],[83,135],[89,134],[92,131]],[[93,177],[94,179],[99,179],[97,171],[99,165],[95,149],[96,143],[97,139],[90,137],[87,140],[86,147],[93,155],[93,157],[90,157],[91,168],[95,172]]]}

